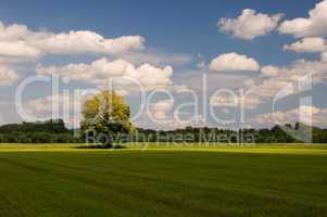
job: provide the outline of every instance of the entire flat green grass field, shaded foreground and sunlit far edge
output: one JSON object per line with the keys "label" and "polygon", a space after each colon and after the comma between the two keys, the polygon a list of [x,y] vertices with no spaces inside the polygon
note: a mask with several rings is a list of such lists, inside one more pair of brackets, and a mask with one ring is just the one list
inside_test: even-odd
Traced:
{"label": "entire flat green grass field, shaded foreground and sunlit far edge", "polygon": [[0,216],[327,216],[327,146],[0,144]]}

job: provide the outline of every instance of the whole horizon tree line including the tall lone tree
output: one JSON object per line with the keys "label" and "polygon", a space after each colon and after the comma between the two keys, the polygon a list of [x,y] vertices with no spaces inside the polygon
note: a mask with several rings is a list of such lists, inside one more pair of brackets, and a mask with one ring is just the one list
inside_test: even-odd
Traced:
{"label": "whole horizon tree line including the tall lone tree", "polygon": [[123,142],[327,143],[327,129],[300,123],[239,130],[207,127],[175,130],[136,128],[129,120],[129,105],[112,90],[102,91],[87,100],[81,115],[80,129],[75,130],[67,129],[62,119],[3,125],[0,127],[0,142],[98,143],[108,148]]}

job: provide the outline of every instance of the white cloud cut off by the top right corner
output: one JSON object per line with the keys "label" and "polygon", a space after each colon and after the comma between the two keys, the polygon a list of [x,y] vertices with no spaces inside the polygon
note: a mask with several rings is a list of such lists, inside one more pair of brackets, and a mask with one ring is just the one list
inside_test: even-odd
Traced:
{"label": "white cloud cut off by the top right corner", "polygon": [[324,37],[327,36],[327,0],[318,2],[309,12],[309,17],[299,17],[285,21],[278,28],[280,34],[294,37]]}

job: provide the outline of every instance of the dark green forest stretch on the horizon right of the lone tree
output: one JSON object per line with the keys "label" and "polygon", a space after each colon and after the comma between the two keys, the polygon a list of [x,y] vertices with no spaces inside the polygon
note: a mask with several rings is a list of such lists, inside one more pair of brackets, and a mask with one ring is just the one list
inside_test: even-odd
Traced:
{"label": "dark green forest stretch on the horizon right of the lone tree", "polygon": [[314,143],[327,143],[327,130],[303,124],[275,126],[271,129],[228,130],[186,127],[175,130],[137,129],[131,141],[207,142],[207,143],[301,143],[310,136]]}

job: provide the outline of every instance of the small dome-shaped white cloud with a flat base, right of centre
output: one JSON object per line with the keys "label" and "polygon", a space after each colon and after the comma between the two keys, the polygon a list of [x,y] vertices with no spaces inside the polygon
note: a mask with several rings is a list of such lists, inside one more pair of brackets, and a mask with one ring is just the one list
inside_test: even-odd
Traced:
{"label": "small dome-shaped white cloud with a flat base, right of centre", "polygon": [[254,72],[260,69],[260,65],[252,58],[232,52],[215,58],[210,63],[210,69],[215,72]]}

